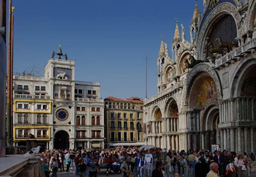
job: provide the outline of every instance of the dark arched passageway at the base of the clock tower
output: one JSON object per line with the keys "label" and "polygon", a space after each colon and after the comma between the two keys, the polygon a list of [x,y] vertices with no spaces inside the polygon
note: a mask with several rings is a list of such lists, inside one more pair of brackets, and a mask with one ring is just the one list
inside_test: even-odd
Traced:
{"label": "dark arched passageway at the base of the clock tower", "polygon": [[54,149],[69,149],[69,134],[60,130],[54,135]]}

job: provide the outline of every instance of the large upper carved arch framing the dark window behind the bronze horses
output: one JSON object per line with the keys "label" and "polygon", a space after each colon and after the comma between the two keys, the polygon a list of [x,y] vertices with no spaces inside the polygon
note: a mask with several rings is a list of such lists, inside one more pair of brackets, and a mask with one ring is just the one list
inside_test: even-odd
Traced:
{"label": "large upper carved arch framing the dark window behind the bronze horses", "polygon": [[203,53],[204,53],[204,44],[206,40],[206,35],[208,34],[210,27],[212,24],[217,20],[217,18],[221,17],[224,14],[231,15],[235,22],[237,27],[237,36],[241,35],[241,15],[237,11],[237,8],[228,2],[221,3],[217,7],[215,7],[210,14],[206,17],[204,20],[204,23],[201,24],[201,29],[198,33],[197,37],[197,59],[203,60]]}

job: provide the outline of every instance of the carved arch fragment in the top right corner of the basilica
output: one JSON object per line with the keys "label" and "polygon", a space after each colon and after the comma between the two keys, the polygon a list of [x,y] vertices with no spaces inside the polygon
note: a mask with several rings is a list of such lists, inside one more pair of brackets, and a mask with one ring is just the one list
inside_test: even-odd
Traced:
{"label": "carved arch fragment in the top right corner of the basilica", "polygon": [[250,1],[249,7],[248,7],[248,14],[247,14],[247,30],[253,30],[254,29],[254,20],[256,18],[256,1],[252,0]]}

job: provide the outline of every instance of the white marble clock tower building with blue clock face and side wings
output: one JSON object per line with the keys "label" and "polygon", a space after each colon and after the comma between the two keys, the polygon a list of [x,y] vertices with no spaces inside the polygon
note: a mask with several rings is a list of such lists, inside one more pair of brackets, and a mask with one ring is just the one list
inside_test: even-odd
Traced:
{"label": "white marble clock tower building with blue clock face and side wings", "polygon": [[44,77],[13,76],[16,146],[31,133],[50,149],[104,147],[100,83],[76,81],[74,69],[75,61],[51,58]]}

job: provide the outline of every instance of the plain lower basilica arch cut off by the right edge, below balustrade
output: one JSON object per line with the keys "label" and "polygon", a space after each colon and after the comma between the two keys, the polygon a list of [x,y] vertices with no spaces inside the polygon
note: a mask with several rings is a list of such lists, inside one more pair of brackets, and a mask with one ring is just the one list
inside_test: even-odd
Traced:
{"label": "plain lower basilica arch cut off by the right edge, below balustrade", "polygon": [[240,91],[242,87],[241,81],[246,76],[248,69],[256,65],[256,55],[250,55],[245,57],[239,65],[236,67],[236,70],[231,76],[231,87],[229,88],[230,98],[236,98],[240,96]]}

